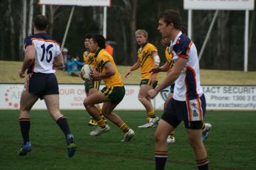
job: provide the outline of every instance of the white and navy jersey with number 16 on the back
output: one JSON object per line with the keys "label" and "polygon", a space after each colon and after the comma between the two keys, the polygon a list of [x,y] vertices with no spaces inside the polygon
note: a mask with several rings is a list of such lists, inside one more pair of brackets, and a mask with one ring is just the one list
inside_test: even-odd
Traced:
{"label": "white and navy jersey with number 16 on the back", "polygon": [[53,60],[61,53],[59,44],[44,32],[30,35],[24,39],[24,49],[27,46],[34,46],[36,49],[35,59],[27,70],[27,73],[51,74],[53,70]]}

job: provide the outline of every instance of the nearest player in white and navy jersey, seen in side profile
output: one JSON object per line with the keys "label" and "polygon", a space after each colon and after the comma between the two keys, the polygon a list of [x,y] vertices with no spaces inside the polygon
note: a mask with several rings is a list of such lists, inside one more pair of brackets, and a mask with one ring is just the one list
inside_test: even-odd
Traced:
{"label": "nearest player in white and navy jersey, seen in side profile", "polygon": [[175,10],[166,10],[159,15],[158,31],[162,37],[171,38],[170,49],[175,64],[164,82],[148,94],[154,98],[174,82],[175,89],[155,131],[155,167],[157,170],[164,169],[168,150],[166,138],[183,121],[198,169],[206,170],[209,160],[201,140],[206,99],[200,85],[197,49],[192,40],[181,33],[181,16]]}

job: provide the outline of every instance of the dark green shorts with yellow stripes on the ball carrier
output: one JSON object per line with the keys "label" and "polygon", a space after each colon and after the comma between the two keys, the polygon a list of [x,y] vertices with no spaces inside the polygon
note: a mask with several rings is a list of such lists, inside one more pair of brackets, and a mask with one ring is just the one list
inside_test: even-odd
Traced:
{"label": "dark green shorts with yellow stripes on the ball carrier", "polygon": [[125,89],[124,86],[121,87],[104,87],[101,90],[105,96],[107,96],[112,104],[118,105],[122,99],[124,99]]}

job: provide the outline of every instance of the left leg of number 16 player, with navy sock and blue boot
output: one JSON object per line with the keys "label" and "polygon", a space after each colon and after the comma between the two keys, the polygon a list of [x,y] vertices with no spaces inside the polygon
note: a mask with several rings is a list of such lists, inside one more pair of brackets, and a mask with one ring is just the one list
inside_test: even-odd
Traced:
{"label": "left leg of number 16 player, with navy sock and blue boot", "polygon": [[27,152],[30,152],[32,149],[30,144],[30,110],[37,100],[38,96],[32,93],[28,93],[27,91],[21,93],[19,125],[23,138],[23,146],[18,151],[18,155],[21,156],[27,155]]}

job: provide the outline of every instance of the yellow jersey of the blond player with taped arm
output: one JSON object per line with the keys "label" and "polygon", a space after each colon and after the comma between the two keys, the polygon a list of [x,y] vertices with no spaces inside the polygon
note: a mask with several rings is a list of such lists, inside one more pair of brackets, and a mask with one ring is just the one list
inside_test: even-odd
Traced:
{"label": "yellow jersey of the blond player with taped arm", "polygon": [[[154,58],[152,57],[153,52],[158,52],[158,49],[152,45],[152,43],[146,43],[138,49],[138,60],[141,65],[141,77],[142,79],[151,79],[152,73],[149,71],[154,68]],[[156,80],[158,80],[158,74],[156,75]]]}

